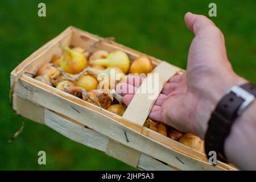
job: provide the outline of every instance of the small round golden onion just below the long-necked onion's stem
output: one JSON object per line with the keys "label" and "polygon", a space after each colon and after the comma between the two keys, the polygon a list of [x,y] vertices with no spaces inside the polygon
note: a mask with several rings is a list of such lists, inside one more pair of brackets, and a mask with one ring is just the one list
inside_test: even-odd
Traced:
{"label": "small round golden onion just below the long-necked onion's stem", "polygon": [[77,81],[76,86],[80,86],[89,92],[90,90],[97,89],[98,81],[93,76],[82,75]]}

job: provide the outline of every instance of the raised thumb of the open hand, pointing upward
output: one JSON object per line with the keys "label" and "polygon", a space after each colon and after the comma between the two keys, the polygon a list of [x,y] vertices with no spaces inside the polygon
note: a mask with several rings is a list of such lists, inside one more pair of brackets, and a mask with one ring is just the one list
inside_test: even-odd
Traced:
{"label": "raised thumb of the open hand, pointing upward", "polygon": [[220,68],[224,64],[232,68],[226,55],[224,35],[212,20],[192,13],[186,13],[184,19],[188,29],[195,34],[189,48],[187,69],[199,65]]}

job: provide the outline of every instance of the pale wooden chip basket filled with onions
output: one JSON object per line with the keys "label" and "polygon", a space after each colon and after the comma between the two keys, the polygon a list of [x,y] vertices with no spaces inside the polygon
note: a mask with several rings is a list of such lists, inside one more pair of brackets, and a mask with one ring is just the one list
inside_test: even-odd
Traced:
{"label": "pale wooden chip basket filled with onions", "polygon": [[[135,94],[123,117],[119,117],[32,78],[40,65],[48,63],[53,55],[60,55],[59,43],[85,49],[90,47],[93,51],[119,49],[131,60],[143,55],[113,41],[68,27],[11,72],[13,109],[18,114],[139,169],[236,170],[222,162],[212,166],[203,153],[143,127],[154,103],[146,98],[147,94]],[[155,66],[153,72],[159,73],[160,90],[168,78],[182,72],[174,65],[148,57]]]}

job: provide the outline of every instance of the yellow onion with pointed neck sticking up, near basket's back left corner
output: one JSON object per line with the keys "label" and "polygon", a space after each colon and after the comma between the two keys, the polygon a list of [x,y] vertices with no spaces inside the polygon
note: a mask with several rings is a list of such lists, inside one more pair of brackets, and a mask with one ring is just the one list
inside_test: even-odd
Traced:
{"label": "yellow onion with pointed neck sticking up, near basket's back left corner", "polygon": [[84,70],[87,60],[81,52],[73,51],[68,46],[61,46],[63,56],[60,59],[59,66],[64,72],[77,74]]}

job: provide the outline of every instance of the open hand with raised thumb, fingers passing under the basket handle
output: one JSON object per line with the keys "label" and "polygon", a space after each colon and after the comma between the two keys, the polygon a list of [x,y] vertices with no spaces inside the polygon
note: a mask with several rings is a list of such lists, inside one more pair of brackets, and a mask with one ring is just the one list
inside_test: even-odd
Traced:
{"label": "open hand with raised thumb, fingers passing under the basket handle", "polygon": [[[246,81],[234,73],[226,55],[224,36],[211,20],[187,13],[185,23],[195,34],[187,72],[170,78],[148,117],[203,138],[217,102],[231,86]],[[117,85],[126,105],[141,82],[142,78],[130,76],[127,83]]]}

